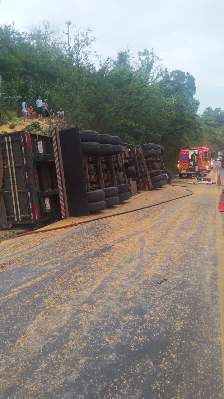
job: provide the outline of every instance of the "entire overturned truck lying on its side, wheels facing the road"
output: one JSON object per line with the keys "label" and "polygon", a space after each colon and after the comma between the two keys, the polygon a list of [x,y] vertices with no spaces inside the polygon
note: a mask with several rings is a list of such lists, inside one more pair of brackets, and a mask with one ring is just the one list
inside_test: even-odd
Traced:
{"label": "entire overturned truck lying on its side, wheels facing the road", "polygon": [[78,128],[51,132],[0,135],[0,229],[85,216],[167,183],[155,144],[134,147]]}

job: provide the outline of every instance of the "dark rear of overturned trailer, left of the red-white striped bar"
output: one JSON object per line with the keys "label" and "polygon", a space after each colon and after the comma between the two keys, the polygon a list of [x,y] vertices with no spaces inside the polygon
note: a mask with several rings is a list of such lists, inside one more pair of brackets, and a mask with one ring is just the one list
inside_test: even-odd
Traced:
{"label": "dark rear of overturned trailer, left of the red-white striped bar", "polygon": [[0,135],[0,148],[0,213],[6,212],[11,224],[60,217],[51,137],[25,131],[4,133]]}

